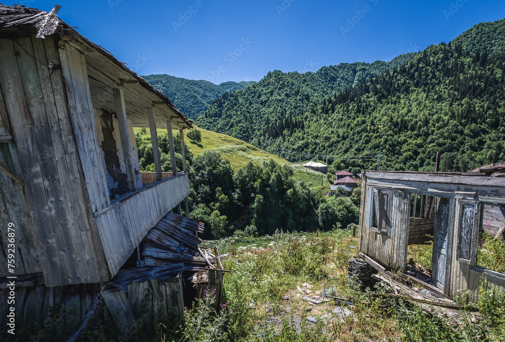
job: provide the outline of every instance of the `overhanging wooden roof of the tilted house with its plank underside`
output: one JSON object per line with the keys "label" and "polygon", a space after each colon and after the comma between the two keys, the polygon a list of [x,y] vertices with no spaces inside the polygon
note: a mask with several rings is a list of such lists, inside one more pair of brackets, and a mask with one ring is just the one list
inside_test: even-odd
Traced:
{"label": "overhanging wooden roof of the tilted house with its plank underside", "polygon": [[185,115],[163,93],[128,69],[112,53],[58,18],[56,13],[59,9],[60,6],[55,6],[47,13],[34,8],[0,4],[0,37],[49,36],[77,48],[86,56],[93,107],[115,111],[113,89],[123,87],[127,116],[133,126],[149,127],[146,108],[155,105],[158,123],[170,120],[175,129],[192,127]]}

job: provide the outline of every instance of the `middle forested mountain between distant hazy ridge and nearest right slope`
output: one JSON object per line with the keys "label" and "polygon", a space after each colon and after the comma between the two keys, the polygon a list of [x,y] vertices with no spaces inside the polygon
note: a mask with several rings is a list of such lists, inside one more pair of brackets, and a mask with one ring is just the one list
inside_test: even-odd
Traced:
{"label": "middle forested mountain between distant hazy ridge and nearest right slope", "polygon": [[[322,67],[316,73],[269,72],[260,82],[215,100],[196,124],[251,142],[272,121],[301,117],[336,91],[399,67],[414,55],[400,55],[387,63],[342,63]],[[269,152],[276,153],[272,149]]]}

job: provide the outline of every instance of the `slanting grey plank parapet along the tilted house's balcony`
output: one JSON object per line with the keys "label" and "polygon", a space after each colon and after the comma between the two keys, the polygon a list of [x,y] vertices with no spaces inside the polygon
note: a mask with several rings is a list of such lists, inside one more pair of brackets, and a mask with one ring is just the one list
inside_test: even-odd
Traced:
{"label": "slanting grey plank parapet along the tilted house's balcony", "polygon": [[188,175],[181,174],[130,193],[95,213],[111,274],[117,273],[149,230],[189,192]]}

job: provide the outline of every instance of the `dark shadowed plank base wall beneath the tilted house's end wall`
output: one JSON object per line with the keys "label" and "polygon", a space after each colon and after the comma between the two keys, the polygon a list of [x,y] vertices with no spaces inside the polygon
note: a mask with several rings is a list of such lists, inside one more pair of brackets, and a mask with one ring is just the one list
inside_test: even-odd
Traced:
{"label": "dark shadowed plank base wall beneath the tilted house's end wall", "polygon": [[[79,284],[58,287],[44,285],[16,288],[16,314],[28,322],[38,322],[51,328],[74,329],[100,292],[100,284]],[[7,316],[8,289],[0,289],[0,326]],[[5,299],[5,300],[4,300]]]}

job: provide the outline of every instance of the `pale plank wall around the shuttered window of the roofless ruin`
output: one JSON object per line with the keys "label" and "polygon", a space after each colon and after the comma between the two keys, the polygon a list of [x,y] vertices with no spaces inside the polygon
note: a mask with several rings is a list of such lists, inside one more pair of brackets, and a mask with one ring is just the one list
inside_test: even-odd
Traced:
{"label": "pale plank wall around the shuttered window of the roofless ruin", "polygon": [[360,251],[392,269],[402,270],[406,262],[407,224],[409,201],[405,192],[393,191],[391,227],[389,233],[382,234],[370,229],[372,215],[373,187],[366,186],[363,194],[364,210],[360,220]]}

